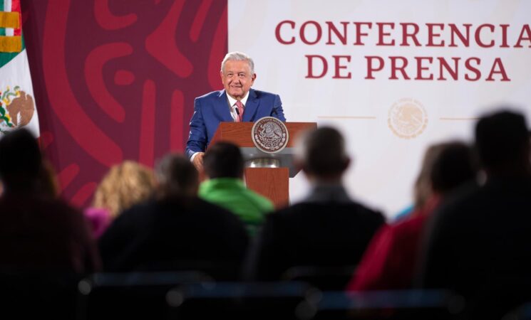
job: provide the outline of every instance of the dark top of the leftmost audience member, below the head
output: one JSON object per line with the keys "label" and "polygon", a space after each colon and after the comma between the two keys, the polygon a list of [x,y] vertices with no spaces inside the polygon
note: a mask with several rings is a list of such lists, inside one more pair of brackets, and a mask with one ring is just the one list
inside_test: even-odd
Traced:
{"label": "dark top of the leftmost audience member, below the head", "polygon": [[0,265],[16,271],[94,272],[90,227],[63,201],[6,193],[0,198]]}

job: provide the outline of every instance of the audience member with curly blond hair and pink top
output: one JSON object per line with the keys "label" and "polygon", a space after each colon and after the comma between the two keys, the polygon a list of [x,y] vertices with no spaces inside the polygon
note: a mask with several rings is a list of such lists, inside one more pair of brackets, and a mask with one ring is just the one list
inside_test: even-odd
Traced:
{"label": "audience member with curly blond hair and pink top", "polygon": [[155,176],[147,166],[131,160],[112,166],[96,188],[92,206],[84,211],[94,238],[124,210],[148,200],[154,190]]}

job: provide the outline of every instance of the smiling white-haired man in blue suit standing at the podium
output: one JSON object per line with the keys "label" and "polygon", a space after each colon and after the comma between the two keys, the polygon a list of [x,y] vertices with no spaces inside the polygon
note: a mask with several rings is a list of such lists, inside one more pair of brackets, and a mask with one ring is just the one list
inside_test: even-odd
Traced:
{"label": "smiling white-haired man in blue suit standing at the podium", "polygon": [[251,89],[257,75],[249,55],[227,53],[220,76],[224,90],[194,101],[186,154],[197,169],[202,169],[203,154],[220,122],[253,122],[267,116],[286,121],[279,95]]}

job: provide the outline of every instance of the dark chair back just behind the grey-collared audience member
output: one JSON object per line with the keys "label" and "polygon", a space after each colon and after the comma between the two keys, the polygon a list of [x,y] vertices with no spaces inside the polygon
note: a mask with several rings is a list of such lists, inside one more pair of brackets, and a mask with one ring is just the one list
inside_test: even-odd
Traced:
{"label": "dark chair back just behind the grey-collared audience member", "polygon": [[355,265],[297,266],[286,270],[282,280],[308,282],[321,290],[343,290],[356,270]]}

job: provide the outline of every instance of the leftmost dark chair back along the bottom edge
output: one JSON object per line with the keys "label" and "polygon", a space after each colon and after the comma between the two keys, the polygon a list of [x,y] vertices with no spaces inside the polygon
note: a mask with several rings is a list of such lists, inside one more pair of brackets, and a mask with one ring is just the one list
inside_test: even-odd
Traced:
{"label": "leftmost dark chair back along the bottom edge", "polygon": [[163,319],[168,290],[212,281],[202,272],[97,273],[78,284],[76,319]]}

